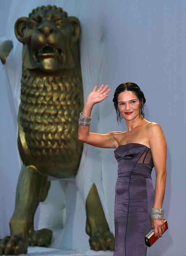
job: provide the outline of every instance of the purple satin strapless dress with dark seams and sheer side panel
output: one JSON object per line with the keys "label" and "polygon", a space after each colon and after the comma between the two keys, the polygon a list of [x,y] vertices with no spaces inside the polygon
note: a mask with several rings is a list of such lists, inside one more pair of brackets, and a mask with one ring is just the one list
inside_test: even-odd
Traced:
{"label": "purple satin strapless dress with dark seams and sheer side panel", "polygon": [[113,256],[145,256],[144,236],[150,231],[154,188],[151,149],[138,143],[115,151],[118,178],[115,187],[115,246]]}

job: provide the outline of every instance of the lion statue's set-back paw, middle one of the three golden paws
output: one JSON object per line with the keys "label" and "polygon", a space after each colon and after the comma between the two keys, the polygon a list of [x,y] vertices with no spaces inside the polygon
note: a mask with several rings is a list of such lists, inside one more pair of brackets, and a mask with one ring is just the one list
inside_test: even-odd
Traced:
{"label": "lion statue's set-back paw, middle one of the three golden paws", "polygon": [[35,231],[34,235],[29,237],[29,246],[47,246],[52,239],[52,231],[47,228],[42,228]]}

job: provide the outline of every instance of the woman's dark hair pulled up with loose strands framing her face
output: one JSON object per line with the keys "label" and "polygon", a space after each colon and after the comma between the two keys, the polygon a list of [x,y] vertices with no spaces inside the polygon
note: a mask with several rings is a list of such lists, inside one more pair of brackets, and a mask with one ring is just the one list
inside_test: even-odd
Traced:
{"label": "woman's dark hair pulled up with loose strands framing her face", "polygon": [[140,101],[139,117],[142,116],[142,118],[144,118],[145,115],[143,113],[143,105],[146,102],[145,96],[137,84],[131,83],[131,82],[126,82],[126,83],[120,84],[114,92],[113,102],[114,102],[114,107],[116,109],[117,121],[120,120],[120,122],[121,122],[121,119],[122,119],[122,116],[120,115],[120,111],[118,109],[118,95],[121,92],[125,92],[125,91],[131,91],[136,94],[136,96],[138,97],[138,99]]}

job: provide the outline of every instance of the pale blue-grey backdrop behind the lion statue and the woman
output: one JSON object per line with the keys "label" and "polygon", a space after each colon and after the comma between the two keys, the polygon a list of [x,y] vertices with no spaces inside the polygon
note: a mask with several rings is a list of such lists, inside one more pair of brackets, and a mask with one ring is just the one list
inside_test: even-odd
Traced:
{"label": "pale blue-grey backdrop behind the lion statue and the woman", "polygon": [[[161,125],[168,146],[164,208],[169,229],[157,244],[147,250],[147,255],[185,256],[186,1],[40,0],[39,5],[42,4],[61,6],[69,16],[76,16],[80,20],[84,97],[86,98],[95,84],[109,84],[112,88],[110,97],[93,109],[92,131],[105,133],[126,128],[124,123],[117,124],[112,107],[112,96],[118,84],[131,81],[143,90],[147,100],[145,118]],[[38,1],[35,0],[1,1],[0,36],[12,40],[14,48],[6,67],[1,65],[0,238],[9,234],[8,222],[14,209],[15,189],[20,171],[16,145],[16,111],[20,93],[22,45],[15,38],[13,27],[17,18],[27,16],[36,6]],[[8,86],[7,77],[10,81]],[[113,149],[88,150],[88,160],[92,161],[91,165],[97,165],[97,173],[91,176],[93,180],[97,180],[98,175],[98,182],[101,180],[99,192],[110,229],[114,232],[117,162]],[[91,158],[91,152],[94,158]],[[152,178],[155,181],[154,171]],[[73,186],[70,183],[68,189]],[[83,232],[85,212],[80,207],[83,201],[75,187],[73,189],[79,204],[76,204],[74,212],[71,211],[71,219],[65,227],[66,233],[62,242],[69,241],[70,237],[68,247],[78,248],[79,244],[83,248],[84,244],[87,248],[88,236]],[[50,205],[50,200],[45,204]],[[77,234],[74,233],[77,228],[72,226],[80,223],[79,220],[75,222],[77,217],[73,219],[73,214],[77,216],[77,212],[82,217],[82,230],[81,236],[78,239],[74,236],[73,240],[71,234]],[[70,225],[72,222],[73,225]]]}

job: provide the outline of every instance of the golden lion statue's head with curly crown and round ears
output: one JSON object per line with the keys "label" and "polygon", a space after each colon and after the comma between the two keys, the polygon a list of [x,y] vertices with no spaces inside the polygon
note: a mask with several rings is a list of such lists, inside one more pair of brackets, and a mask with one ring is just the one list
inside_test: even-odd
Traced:
{"label": "golden lion statue's head with curly crown and round ears", "polygon": [[62,8],[41,6],[15,23],[17,39],[23,43],[23,66],[53,72],[71,69],[79,58],[80,23]]}

